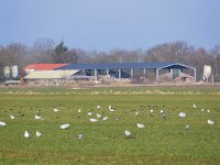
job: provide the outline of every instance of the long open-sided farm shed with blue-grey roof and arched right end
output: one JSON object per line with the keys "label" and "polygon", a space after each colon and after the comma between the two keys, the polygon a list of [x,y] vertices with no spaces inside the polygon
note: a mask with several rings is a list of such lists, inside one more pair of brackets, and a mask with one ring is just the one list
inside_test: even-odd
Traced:
{"label": "long open-sided farm shed with blue-grey roof and arched right end", "polygon": [[[191,81],[196,81],[196,68],[191,66],[187,66],[180,63],[172,63],[172,62],[163,62],[163,63],[107,63],[107,64],[69,64],[66,66],[62,66],[55,68],[55,70],[81,70],[84,73],[81,76],[94,76],[95,80],[99,79],[100,75],[106,75],[113,77],[116,79],[121,78],[135,78],[135,73],[139,77],[143,79],[148,78],[148,70],[153,70],[155,75],[155,80],[160,81],[160,78],[163,77],[164,74],[169,74],[172,79],[179,78],[180,76],[185,76],[185,78],[180,78],[182,80],[186,80],[187,77]],[[189,74],[183,74],[184,72],[189,70]],[[141,75],[141,76],[140,76]],[[188,75],[188,76],[187,76]],[[77,76],[77,75],[76,75]]]}

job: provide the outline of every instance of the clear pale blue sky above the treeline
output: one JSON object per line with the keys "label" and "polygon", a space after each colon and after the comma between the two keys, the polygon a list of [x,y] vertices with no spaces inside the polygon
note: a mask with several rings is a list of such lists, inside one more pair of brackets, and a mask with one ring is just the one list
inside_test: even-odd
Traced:
{"label": "clear pale blue sky above the treeline", "polygon": [[1,0],[0,45],[36,38],[85,51],[220,44],[220,0]]}

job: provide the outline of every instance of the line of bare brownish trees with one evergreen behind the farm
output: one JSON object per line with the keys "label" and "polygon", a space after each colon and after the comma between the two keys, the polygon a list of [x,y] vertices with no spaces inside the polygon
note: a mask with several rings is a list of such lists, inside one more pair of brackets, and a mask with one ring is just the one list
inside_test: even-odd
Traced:
{"label": "line of bare brownish trees with one evergreen behind the farm", "polygon": [[0,45],[0,79],[3,67],[18,65],[19,68],[31,63],[124,63],[124,62],[179,62],[197,68],[197,80],[202,78],[204,65],[212,67],[215,81],[220,81],[220,45],[211,50],[195,48],[186,42],[164,43],[153,47],[134,51],[112,50],[110,52],[69,48],[62,41],[57,45],[52,38],[37,38],[32,47],[20,43]]}

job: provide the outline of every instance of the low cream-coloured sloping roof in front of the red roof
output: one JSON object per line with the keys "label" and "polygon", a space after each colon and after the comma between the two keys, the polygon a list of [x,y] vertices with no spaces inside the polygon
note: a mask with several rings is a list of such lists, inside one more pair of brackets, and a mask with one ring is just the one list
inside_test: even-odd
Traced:
{"label": "low cream-coloured sloping roof in front of the red roof", "polygon": [[24,77],[24,79],[68,79],[79,70],[36,70]]}

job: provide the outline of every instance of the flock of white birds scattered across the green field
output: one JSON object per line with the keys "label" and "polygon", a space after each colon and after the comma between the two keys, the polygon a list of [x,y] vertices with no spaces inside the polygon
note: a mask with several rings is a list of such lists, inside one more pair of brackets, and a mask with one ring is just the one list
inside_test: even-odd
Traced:
{"label": "flock of white birds scattered across the green field", "polygon": [[[100,109],[100,108],[101,108],[100,106],[97,106],[97,109]],[[198,107],[197,107],[195,103],[194,103],[193,108],[194,108],[194,109],[198,109]],[[59,112],[61,110],[54,108],[53,111],[56,113],[56,112]],[[78,109],[77,111],[78,111],[78,113],[80,113],[80,112],[81,112],[81,109]],[[111,106],[109,106],[109,111],[110,111],[110,112],[116,112],[117,110],[116,110],[114,108],[112,108]],[[201,111],[204,112],[205,109],[201,109]],[[150,112],[151,112],[151,113],[154,113],[154,110],[151,109]],[[207,109],[206,112],[210,113],[210,110]],[[107,117],[107,116],[101,116],[100,113],[96,113],[96,114],[95,114],[92,111],[88,112],[87,114],[90,116],[90,117],[96,117],[96,118],[89,118],[90,122],[98,122],[99,120],[103,120],[103,121],[108,120],[108,117]],[[134,114],[135,114],[135,116],[140,116],[140,112],[135,111]],[[185,112],[183,112],[183,111],[178,113],[178,117],[179,117],[179,118],[186,118],[186,116],[187,116],[187,114],[186,114]],[[165,119],[165,118],[166,118],[166,113],[165,113],[164,110],[161,110],[161,117],[162,117],[162,119]],[[12,114],[10,114],[10,119],[11,119],[11,120],[14,120],[15,117],[12,116]],[[44,119],[43,119],[38,113],[36,113],[36,114],[35,114],[35,120],[44,120]],[[116,117],[116,120],[119,120],[119,117]],[[208,119],[208,120],[207,120],[207,123],[208,123],[208,124],[211,124],[211,125],[215,124],[215,122],[213,122],[211,119]],[[0,127],[7,127],[7,123],[3,122],[3,121],[0,121]],[[62,124],[62,125],[59,127],[59,129],[66,130],[66,129],[68,129],[69,127],[70,127],[69,123],[64,123],[64,124]],[[145,128],[145,125],[144,125],[143,123],[136,123],[136,127],[138,127],[139,129],[144,129],[144,128]],[[186,129],[186,130],[189,130],[189,128],[190,128],[189,124],[185,125],[185,129]],[[41,133],[40,131],[36,131],[36,132],[35,132],[35,135],[36,135],[37,138],[40,138],[40,136],[42,136],[42,133]],[[128,138],[128,139],[132,138],[132,133],[131,133],[129,130],[125,130],[125,131],[124,131],[124,135],[125,135],[125,138]],[[25,139],[30,139],[30,138],[31,138],[31,134],[29,133],[29,131],[24,131],[23,136],[24,136]],[[78,139],[78,140],[82,140],[82,139],[84,139],[84,134],[77,134],[77,139]]]}

